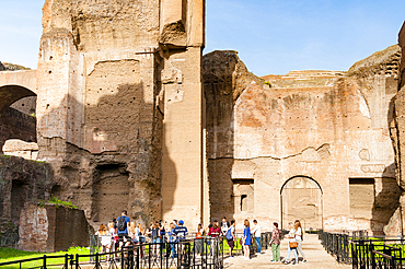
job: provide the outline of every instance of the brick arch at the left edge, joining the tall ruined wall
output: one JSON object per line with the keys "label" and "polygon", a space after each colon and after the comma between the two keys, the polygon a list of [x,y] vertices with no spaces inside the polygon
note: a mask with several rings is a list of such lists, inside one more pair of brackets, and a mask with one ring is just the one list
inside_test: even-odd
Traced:
{"label": "brick arch at the left edge, joining the tall ruined wall", "polygon": [[14,102],[36,94],[36,70],[0,72],[0,114]]}

